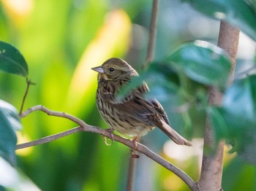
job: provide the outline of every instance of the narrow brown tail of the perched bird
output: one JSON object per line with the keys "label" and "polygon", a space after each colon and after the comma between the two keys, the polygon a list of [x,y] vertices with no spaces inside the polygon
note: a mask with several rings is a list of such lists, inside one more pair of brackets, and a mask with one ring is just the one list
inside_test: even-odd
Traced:
{"label": "narrow brown tail of the perched bird", "polygon": [[176,130],[170,127],[170,125],[167,125],[166,122],[162,121],[162,124],[158,125],[158,127],[162,131],[164,131],[165,134],[170,137],[170,139],[176,142],[176,144],[192,146],[192,144],[189,141],[187,141],[183,136],[178,134]]}

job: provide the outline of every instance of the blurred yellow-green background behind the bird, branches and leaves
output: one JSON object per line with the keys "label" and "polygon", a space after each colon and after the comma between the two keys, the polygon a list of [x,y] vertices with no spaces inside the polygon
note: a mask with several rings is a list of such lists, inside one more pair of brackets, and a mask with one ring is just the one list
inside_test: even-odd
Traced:
{"label": "blurred yellow-green background behind the bird, branches and leaves", "polygon": [[[29,65],[31,86],[25,109],[42,104],[49,109],[73,114],[90,125],[108,128],[97,112],[97,74],[91,70],[108,58],[124,58],[140,71],[146,59],[151,1],[125,0],[1,0],[0,40],[13,44]],[[159,2],[155,59],[161,61],[182,42],[203,39],[217,44],[219,21],[180,1]],[[248,67],[255,47],[241,34],[238,58]],[[246,44],[246,45],[245,45]],[[248,64],[247,64],[248,63]],[[192,87],[191,87],[192,88]],[[0,96],[20,108],[26,81],[0,73]],[[159,130],[143,137],[142,143],[183,169],[197,181],[202,155],[203,112],[176,112],[177,95],[164,96],[170,122],[181,134],[195,137],[192,148],[178,147]],[[18,142],[59,133],[75,124],[34,112],[22,119]],[[184,127],[184,128],[183,128]],[[198,138],[197,138],[198,137]],[[17,152],[18,168],[41,190],[124,190],[129,148],[117,142],[108,147],[102,136],[78,133]],[[236,166],[236,168],[234,168]],[[224,190],[253,190],[255,166],[225,155]],[[229,177],[233,176],[233,181]],[[249,177],[248,177],[249,176]],[[246,179],[241,179],[246,177]],[[242,180],[241,187],[237,187]],[[256,180],[255,180],[256,182]],[[135,190],[189,190],[162,166],[140,155]]]}

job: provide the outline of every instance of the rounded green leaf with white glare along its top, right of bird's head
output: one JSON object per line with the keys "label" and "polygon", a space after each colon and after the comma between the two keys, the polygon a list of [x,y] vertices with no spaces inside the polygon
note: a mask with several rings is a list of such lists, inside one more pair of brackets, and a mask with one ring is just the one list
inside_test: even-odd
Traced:
{"label": "rounded green leaf with white glare along its top, right of bird's head", "polygon": [[203,41],[184,44],[167,61],[196,82],[219,87],[227,84],[230,59],[224,50],[214,44]]}

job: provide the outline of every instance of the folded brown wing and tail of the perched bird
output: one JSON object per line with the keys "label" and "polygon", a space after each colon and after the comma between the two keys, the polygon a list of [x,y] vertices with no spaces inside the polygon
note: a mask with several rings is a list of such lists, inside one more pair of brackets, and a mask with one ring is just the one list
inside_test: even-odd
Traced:
{"label": "folded brown wing and tail of the perched bird", "polygon": [[[147,87],[139,87],[143,90],[148,90]],[[148,99],[143,97],[143,90],[134,90],[130,96],[128,96],[121,103],[115,103],[115,97],[112,94],[108,94],[110,104],[113,107],[120,110],[122,114],[134,118],[151,126],[157,126],[160,128],[170,139],[176,142],[176,144],[191,146],[186,139],[180,136],[173,128],[170,128],[170,122],[167,118],[165,110],[156,98]]]}

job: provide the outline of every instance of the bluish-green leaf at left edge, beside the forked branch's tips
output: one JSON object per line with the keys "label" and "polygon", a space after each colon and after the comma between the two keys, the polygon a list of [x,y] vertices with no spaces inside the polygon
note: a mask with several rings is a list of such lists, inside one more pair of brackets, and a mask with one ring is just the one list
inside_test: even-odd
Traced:
{"label": "bluish-green leaf at left edge, beside the forked branch's tips", "polygon": [[0,156],[12,165],[15,163],[17,143],[15,130],[20,128],[20,118],[15,107],[0,100]]}

